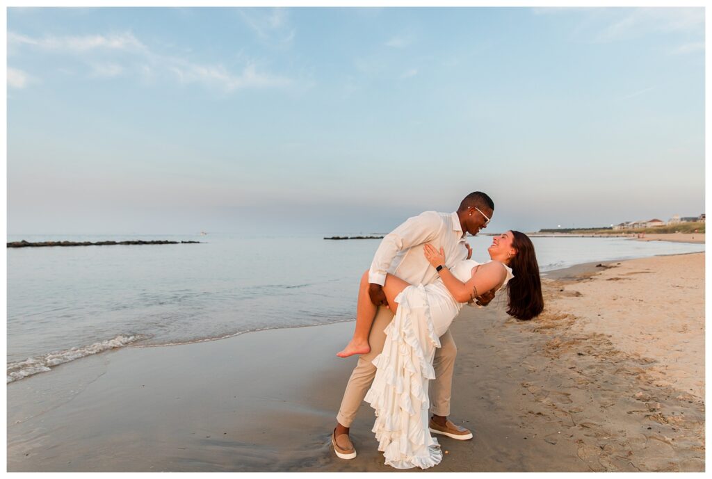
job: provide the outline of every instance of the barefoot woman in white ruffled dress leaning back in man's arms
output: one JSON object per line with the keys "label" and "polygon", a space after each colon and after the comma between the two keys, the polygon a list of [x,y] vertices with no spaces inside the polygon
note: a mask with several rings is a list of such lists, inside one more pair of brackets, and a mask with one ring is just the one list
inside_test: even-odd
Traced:
{"label": "barefoot woman in white ruffled dress leaning back in man's arms", "polygon": [[[374,360],[376,377],[367,401],[376,413],[372,431],[387,465],[394,468],[429,468],[442,459],[438,442],[428,428],[428,381],[435,378],[435,349],[452,320],[467,302],[482,292],[507,285],[508,314],[530,320],[543,310],[539,267],[528,236],[507,231],[493,238],[488,248],[491,261],[462,260],[446,268],[444,252],[425,245],[424,254],[438,270],[439,279],[429,285],[411,285],[387,275],[383,292],[394,318],[386,328],[383,351]],[[365,287],[364,287],[365,285]],[[357,305],[357,331],[373,322],[376,306],[362,280]],[[368,336],[356,335],[347,349],[368,344]],[[345,349],[345,351],[347,350]]]}

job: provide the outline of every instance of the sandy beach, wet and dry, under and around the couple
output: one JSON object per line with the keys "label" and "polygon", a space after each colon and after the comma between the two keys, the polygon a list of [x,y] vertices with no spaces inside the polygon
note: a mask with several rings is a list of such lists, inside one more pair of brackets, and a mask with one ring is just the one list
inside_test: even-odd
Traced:
{"label": "sandy beach, wet and dry, under and around the couple", "polygon": [[[429,471],[703,471],[704,253],[547,275],[532,322],[464,309],[451,419]],[[363,404],[330,433],[353,323],[126,347],[7,386],[9,471],[392,471]]]}

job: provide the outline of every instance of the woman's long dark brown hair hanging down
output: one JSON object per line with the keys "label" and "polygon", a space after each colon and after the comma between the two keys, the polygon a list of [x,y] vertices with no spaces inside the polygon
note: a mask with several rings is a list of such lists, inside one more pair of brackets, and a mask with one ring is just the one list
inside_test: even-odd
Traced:
{"label": "woman's long dark brown hair hanging down", "polygon": [[512,234],[512,247],[516,254],[509,261],[514,278],[507,283],[509,293],[507,314],[518,320],[530,320],[544,310],[539,263],[529,237],[519,231],[512,231]]}

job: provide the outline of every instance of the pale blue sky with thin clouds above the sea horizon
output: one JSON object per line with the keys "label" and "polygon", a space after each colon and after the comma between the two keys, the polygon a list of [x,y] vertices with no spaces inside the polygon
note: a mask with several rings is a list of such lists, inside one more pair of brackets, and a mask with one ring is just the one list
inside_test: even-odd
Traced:
{"label": "pale blue sky with thin clouds above the sea horizon", "polygon": [[8,232],[704,210],[703,9],[9,9]]}

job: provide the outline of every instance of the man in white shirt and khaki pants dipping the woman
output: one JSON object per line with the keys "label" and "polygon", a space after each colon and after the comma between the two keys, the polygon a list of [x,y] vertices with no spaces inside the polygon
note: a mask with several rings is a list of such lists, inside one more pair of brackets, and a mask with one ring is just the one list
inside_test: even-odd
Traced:
{"label": "man in white shirt and khaki pants dipping the woman", "polygon": [[[332,444],[336,455],[343,459],[356,457],[356,451],[349,438],[349,428],[376,374],[372,360],[381,353],[386,335],[383,330],[393,319],[393,314],[386,307],[388,302],[383,293],[386,273],[392,273],[408,283],[429,284],[437,273],[423,255],[423,246],[430,243],[436,250],[444,248],[446,266],[472,254],[465,236],[475,236],[487,227],[492,218],[494,203],[481,191],[468,194],[454,213],[436,213],[426,211],[407,219],[400,226],[383,238],[373,258],[369,272],[369,295],[371,301],[379,306],[371,327],[369,344],[371,351],[359,357],[346,385],[341,401],[337,425],[332,435]],[[483,295],[482,304],[486,304],[493,295]],[[433,367],[436,379],[431,388],[430,431],[451,438],[465,440],[472,438],[466,428],[447,420],[450,414],[452,373],[457,355],[457,347],[448,330],[440,337],[441,347],[436,350]]]}

